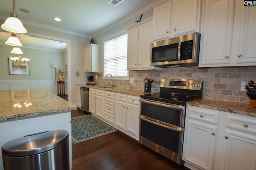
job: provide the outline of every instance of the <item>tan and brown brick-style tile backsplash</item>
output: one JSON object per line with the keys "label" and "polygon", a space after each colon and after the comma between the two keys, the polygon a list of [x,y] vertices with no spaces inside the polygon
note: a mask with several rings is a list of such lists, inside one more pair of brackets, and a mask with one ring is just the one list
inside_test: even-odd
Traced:
{"label": "tan and brown brick-style tile backsplash", "polygon": [[[102,79],[101,73],[93,73],[97,84],[110,86],[111,80]],[[198,68],[177,67],[163,70],[130,70],[130,80],[113,80],[116,87],[144,90],[144,78],[154,78],[152,92],[159,92],[158,83],[162,78],[203,80],[203,98],[249,103],[247,91],[240,91],[241,82],[256,81],[256,67]]]}

